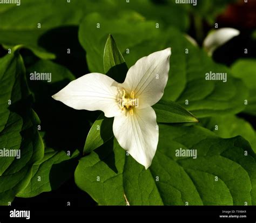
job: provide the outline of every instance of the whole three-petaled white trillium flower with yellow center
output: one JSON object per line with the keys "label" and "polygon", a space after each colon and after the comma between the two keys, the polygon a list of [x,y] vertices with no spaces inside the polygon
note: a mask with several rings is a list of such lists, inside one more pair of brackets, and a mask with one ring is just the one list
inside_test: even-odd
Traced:
{"label": "whole three-petaled white trillium flower with yellow center", "polygon": [[109,76],[90,73],[71,81],[53,99],[75,109],[102,110],[114,117],[113,134],[122,148],[149,168],[158,144],[153,104],[164,94],[171,48],[139,59],[118,83]]}

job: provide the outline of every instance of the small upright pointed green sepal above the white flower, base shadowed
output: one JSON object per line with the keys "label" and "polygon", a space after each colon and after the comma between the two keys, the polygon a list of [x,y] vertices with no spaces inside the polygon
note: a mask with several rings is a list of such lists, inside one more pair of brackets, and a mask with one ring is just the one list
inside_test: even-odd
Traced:
{"label": "small upright pointed green sepal above the white flower, base shadowed", "polygon": [[107,76],[119,83],[124,82],[128,68],[111,34],[107,38],[104,48],[103,64]]}

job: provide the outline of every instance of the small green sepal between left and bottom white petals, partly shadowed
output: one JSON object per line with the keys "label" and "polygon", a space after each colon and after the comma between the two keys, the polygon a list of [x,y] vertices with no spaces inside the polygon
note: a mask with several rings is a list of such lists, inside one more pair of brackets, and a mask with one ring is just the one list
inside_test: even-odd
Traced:
{"label": "small green sepal between left and bottom white petals, partly shadowed", "polygon": [[87,135],[84,145],[84,154],[89,154],[91,151],[110,140],[110,138],[114,136],[112,126],[113,118],[107,118],[103,113],[100,114]]}

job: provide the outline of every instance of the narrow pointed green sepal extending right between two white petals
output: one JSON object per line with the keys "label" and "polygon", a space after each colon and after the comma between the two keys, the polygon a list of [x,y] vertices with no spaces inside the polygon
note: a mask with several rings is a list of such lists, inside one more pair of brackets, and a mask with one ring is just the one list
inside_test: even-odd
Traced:
{"label": "narrow pointed green sepal extending right between two white petals", "polygon": [[157,122],[198,122],[194,115],[176,102],[160,100],[157,104],[154,104],[153,109],[157,114]]}

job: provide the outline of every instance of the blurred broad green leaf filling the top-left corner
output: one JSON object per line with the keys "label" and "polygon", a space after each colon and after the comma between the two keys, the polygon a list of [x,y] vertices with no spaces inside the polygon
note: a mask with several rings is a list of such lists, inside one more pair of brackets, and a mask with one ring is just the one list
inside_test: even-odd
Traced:
{"label": "blurred broad green leaf filling the top-left corner", "polygon": [[78,25],[87,12],[107,13],[114,6],[108,0],[100,0],[100,5],[104,6],[99,7],[99,0],[22,0],[19,6],[1,4],[0,44],[6,48],[21,44],[40,58],[54,59],[55,54],[44,49],[45,36],[58,26]]}

